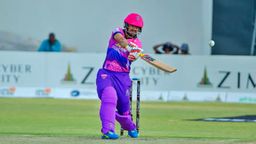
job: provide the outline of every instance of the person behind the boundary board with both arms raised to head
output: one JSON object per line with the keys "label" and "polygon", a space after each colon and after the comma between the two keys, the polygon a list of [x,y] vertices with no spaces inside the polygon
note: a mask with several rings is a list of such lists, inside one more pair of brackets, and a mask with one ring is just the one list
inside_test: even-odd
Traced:
{"label": "person behind the boundary board with both arms raised to head", "polygon": [[[159,50],[158,47],[160,46],[162,46],[162,50]],[[173,45],[170,42],[166,42],[166,43],[154,46],[154,50],[156,54],[178,54],[179,47],[177,45]]]}

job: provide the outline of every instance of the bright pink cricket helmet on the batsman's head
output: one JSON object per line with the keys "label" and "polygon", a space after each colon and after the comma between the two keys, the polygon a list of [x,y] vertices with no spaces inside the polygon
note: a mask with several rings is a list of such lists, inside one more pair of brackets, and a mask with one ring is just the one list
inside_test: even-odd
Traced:
{"label": "bright pink cricket helmet on the batsman's head", "polygon": [[138,27],[143,27],[143,19],[141,17],[141,15],[135,14],[135,13],[131,13],[129,14],[126,18],[125,21],[123,21],[125,23],[129,23],[130,25],[134,25],[134,26],[138,26]]}

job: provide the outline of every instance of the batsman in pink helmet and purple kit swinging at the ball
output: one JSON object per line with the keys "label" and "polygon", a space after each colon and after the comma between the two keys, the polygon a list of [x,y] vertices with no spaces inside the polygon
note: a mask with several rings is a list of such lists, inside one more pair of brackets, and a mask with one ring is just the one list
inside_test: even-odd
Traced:
{"label": "batsman in pink helmet and purple kit swinging at the ball", "polygon": [[130,137],[138,137],[129,110],[129,73],[131,63],[143,52],[138,39],[142,27],[141,15],[134,13],[125,18],[124,29],[115,27],[109,40],[105,62],[102,69],[98,70],[96,85],[98,97],[101,99],[99,116],[102,121],[102,139],[119,138],[115,134],[115,119],[128,131]]}

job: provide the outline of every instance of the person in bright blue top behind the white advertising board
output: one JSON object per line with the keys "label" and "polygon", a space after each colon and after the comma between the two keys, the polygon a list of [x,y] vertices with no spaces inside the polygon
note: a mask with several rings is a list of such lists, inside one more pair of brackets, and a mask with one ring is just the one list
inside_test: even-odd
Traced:
{"label": "person in bright blue top behind the white advertising board", "polygon": [[61,43],[55,39],[54,33],[49,34],[49,39],[45,39],[38,51],[61,51]]}

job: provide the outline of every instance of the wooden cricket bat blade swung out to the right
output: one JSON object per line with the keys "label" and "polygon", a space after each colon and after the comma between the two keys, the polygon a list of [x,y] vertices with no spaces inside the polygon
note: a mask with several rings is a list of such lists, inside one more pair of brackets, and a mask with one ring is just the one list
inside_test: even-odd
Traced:
{"label": "wooden cricket bat blade swung out to the right", "polygon": [[165,63],[158,61],[157,59],[151,57],[150,55],[146,54],[139,54],[139,57],[141,57],[144,61],[150,63],[150,65],[153,65],[154,67],[157,67],[157,69],[160,69],[162,71],[165,71],[167,73],[173,73],[177,69],[174,67],[171,67],[169,65],[166,65]]}

